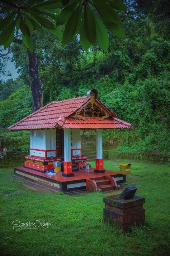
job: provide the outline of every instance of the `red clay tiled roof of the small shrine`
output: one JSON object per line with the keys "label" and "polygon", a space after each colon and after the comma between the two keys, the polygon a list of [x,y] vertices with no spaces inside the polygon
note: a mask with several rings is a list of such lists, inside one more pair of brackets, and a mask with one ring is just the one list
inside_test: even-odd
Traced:
{"label": "red clay tiled roof of the small shrine", "polygon": [[87,96],[72,98],[62,101],[53,101],[41,109],[33,112],[27,117],[23,118],[19,122],[8,127],[9,130],[32,130],[32,129],[47,129],[55,128],[56,125],[62,128],[82,128],[82,129],[94,129],[94,128],[129,128],[131,124],[126,123],[117,119],[113,111],[109,110],[101,101],[97,99],[100,104],[102,104],[107,111],[109,111],[112,116],[103,119],[86,117],[86,120],[82,120],[73,115],[77,110],[79,110],[84,104],[90,101]]}

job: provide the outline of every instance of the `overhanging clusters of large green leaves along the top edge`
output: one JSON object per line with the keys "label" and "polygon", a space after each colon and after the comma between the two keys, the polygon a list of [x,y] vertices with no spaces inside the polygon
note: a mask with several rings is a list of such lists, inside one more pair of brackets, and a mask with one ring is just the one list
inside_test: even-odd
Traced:
{"label": "overhanging clusters of large green leaves along the top edge", "polygon": [[16,31],[22,32],[25,46],[33,51],[34,30],[40,34],[47,28],[68,44],[80,33],[82,48],[87,51],[96,43],[103,50],[109,47],[107,29],[114,35],[125,38],[118,11],[126,11],[122,0],[10,0],[1,1],[0,45],[8,48]]}

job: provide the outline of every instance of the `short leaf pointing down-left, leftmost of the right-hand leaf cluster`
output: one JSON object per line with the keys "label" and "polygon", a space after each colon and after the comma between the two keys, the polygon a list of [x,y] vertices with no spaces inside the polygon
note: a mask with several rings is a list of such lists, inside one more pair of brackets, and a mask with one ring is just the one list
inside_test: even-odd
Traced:
{"label": "short leaf pointing down-left, leftmost of the right-hand leaf cluster", "polygon": [[77,3],[75,2],[73,4],[68,5],[61,11],[61,13],[57,16],[57,26],[62,25],[63,23],[68,21],[76,5]]}

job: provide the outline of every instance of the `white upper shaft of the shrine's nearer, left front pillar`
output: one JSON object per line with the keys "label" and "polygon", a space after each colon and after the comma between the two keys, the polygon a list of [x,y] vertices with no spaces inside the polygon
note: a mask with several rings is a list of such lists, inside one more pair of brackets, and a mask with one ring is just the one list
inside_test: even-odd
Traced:
{"label": "white upper shaft of the shrine's nearer, left front pillar", "polygon": [[71,162],[71,129],[64,129],[64,161]]}

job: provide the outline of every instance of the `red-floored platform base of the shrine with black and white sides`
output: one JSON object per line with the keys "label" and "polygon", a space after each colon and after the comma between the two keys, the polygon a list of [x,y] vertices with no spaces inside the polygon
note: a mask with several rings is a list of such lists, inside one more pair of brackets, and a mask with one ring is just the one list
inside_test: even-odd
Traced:
{"label": "red-floored platform base of the shrine with black and white sides", "polygon": [[50,176],[47,173],[20,166],[14,168],[14,174],[15,176],[24,178],[38,185],[66,193],[85,190],[86,179],[103,179],[105,176],[112,176],[117,180],[118,184],[126,182],[126,175],[122,175],[119,172],[106,170],[105,173],[95,173],[94,169],[95,168],[90,168],[89,170],[80,169],[79,172],[74,172],[75,176],[73,177],[63,177],[62,173],[56,173],[56,175]]}

